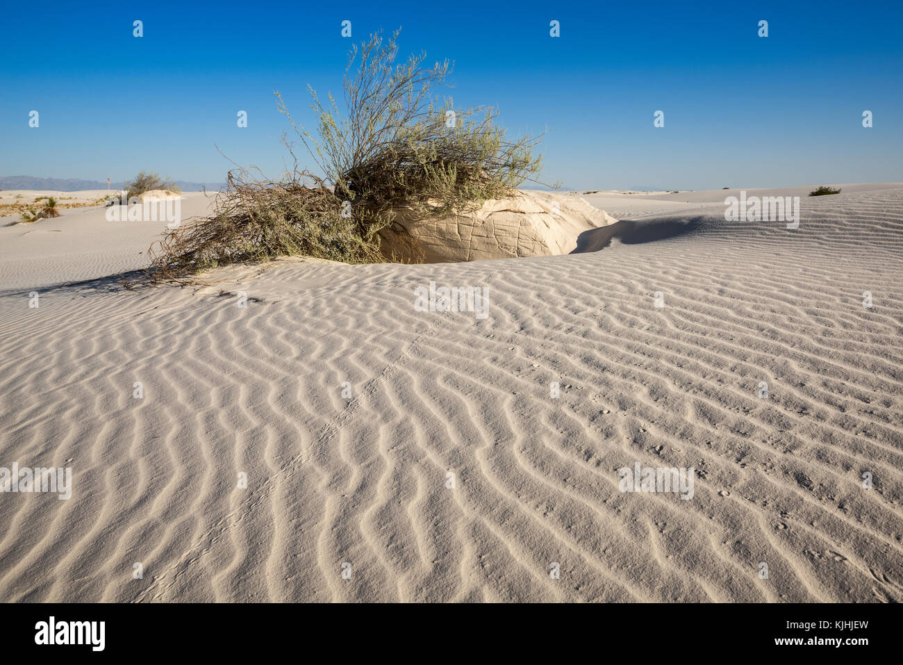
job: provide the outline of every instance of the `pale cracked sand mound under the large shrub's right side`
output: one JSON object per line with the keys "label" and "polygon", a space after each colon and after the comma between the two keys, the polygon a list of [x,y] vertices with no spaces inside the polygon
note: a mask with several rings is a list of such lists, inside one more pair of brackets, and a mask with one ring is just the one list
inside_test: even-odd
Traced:
{"label": "pale cracked sand mound under the large shrub's right side", "polygon": [[396,256],[426,263],[543,257],[567,254],[583,231],[616,221],[582,199],[522,192],[486,201],[478,211],[437,218],[398,211],[396,222],[406,233],[386,229],[383,237]]}

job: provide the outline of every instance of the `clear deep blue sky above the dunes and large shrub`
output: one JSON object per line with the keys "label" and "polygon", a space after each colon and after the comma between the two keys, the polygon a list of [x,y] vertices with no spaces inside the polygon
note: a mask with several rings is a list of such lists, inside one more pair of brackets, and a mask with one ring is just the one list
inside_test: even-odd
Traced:
{"label": "clear deep blue sky above the dunes and large shrub", "polygon": [[13,2],[0,175],[217,182],[215,145],[277,175],[273,91],[312,125],[305,84],[340,92],[345,19],[354,42],[401,26],[403,55],[455,61],[455,106],[547,129],[543,179],[569,188],[903,181],[901,2]]}

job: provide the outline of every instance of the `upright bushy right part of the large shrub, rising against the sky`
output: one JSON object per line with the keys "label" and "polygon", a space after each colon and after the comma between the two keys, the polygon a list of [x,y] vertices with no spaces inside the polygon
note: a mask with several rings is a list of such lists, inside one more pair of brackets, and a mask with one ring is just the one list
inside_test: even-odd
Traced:
{"label": "upright bushy right part of the large shrub, rising against the sky", "polygon": [[324,105],[309,87],[319,138],[294,122],[276,93],[326,180],[363,223],[385,225],[386,213],[400,206],[426,214],[479,207],[535,180],[542,159],[533,149],[541,137],[507,141],[494,124],[496,109],[456,109],[452,98],[434,97],[452,65],[424,69],[424,52],[396,64],[397,36],[384,41],[375,33],[351,48],[344,114],[331,94]]}

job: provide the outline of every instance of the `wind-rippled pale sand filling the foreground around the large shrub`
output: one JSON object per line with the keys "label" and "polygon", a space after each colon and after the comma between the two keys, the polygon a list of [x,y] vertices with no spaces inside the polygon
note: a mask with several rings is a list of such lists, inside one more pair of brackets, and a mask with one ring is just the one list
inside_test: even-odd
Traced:
{"label": "wind-rippled pale sand filling the foreground around the large shrub", "polygon": [[[50,287],[140,264],[126,231],[0,254],[0,466],[74,476],[0,494],[0,600],[903,600],[903,189],[802,202],[197,292]],[[415,311],[431,280],[488,318]],[[637,461],[694,498],[619,492]]]}

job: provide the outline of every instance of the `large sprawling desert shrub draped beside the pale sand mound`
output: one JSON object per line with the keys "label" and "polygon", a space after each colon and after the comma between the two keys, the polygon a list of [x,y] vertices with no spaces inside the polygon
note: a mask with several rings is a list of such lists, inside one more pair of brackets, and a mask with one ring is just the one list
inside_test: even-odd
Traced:
{"label": "large sprawling desert shrub draped beside the pale sand mound", "polygon": [[[507,141],[494,124],[496,110],[454,109],[451,98],[434,98],[433,89],[452,72],[449,62],[424,69],[421,53],[396,64],[397,35],[384,41],[376,33],[351,48],[344,113],[331,94],[323,105],[308,88],[317,137],[295,123],[275,93],[322,178],[299,170],[284,135],[293,170],[277,181],[244,169],[229,173],[212,215],[168,231],[152,247],[149,275],[182,279],[224,263],[296,254],[348,263],[391,259],[379,231],[396,209],[438,214],[479,207],[535,180],[541,158],[533,149],[540,139]],[[144,182],[142,175],[136,182]]]}

